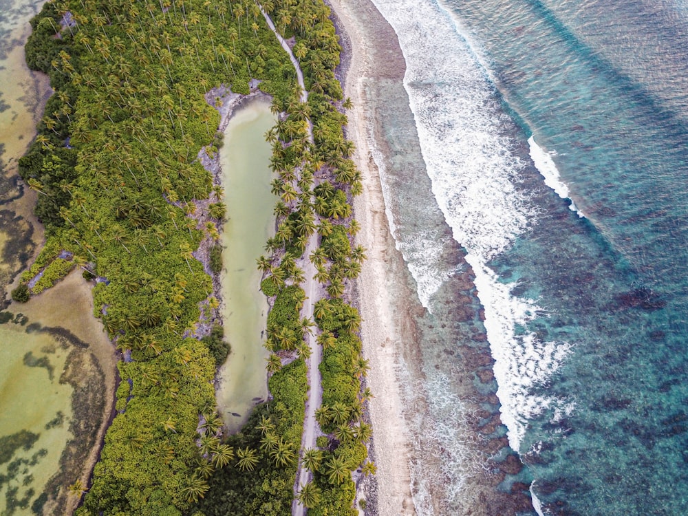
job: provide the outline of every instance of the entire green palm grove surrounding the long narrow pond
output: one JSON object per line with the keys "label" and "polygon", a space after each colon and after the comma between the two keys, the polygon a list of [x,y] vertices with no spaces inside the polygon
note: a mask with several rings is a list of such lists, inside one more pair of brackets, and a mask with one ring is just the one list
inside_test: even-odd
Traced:
{"label": "entire green palm grove surrounding the long narrow pond", "polygon": [[[327,437],[302,454],[314,480],[299,498],[314,514],[350,513],[350,471],[374,471],[363,444],[360,317],[343,297],[365,255],[351,244],[350,199],[361,182],[342,133],[333,72],[340,48],[321,0],[262,7],[296,39],[308,103],[252,0],[62,0],[32,21],[27,61],[50,75],[55,94],[20,171],[39,193],[47,243],[13,297],[28,299],[83,268],[104,280],[94,288],[96,316],[127,357],[118,365],[118,414],[80,515],[290,513],[310,354],[304,332],[317,332],[323,347],[317,416]],[[259,259],[273,303],[272,400],[224,438],[213,377],[226,346],[222,330],[202,338],[217,301],[213,272],[193,257],[202,241],[217,240],[224,209],[197,157],[219,145],[219,116],[204,94],[222,83],[248,93],[250,78],[281,114],[267,135],[279,226]],[[316,321],[304,321],[295,260],[314,232],[320,248],[309,259],[327,299],[316,303]]]}

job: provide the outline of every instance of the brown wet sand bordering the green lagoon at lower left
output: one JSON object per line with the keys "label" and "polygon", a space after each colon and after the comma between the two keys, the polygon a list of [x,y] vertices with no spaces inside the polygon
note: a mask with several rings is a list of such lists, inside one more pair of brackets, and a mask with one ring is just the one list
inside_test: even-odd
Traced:
{"label": "brown wet sand bordering the green lagoon at lower left", "polygon": [[[63,398],[67,396],[64,401],[69,407],[69,417],[65,420],[69,423],[65,424],[68,433],[63,433],[63,440],[54,443],[55,449],[61,451],[58,466],[52,472],[45,471],[50,478],[47,485],[60,491],[57,496],[49,497],[43,514],[72,514],[76,509],[78,497],[68,495],[66,486],[76,479],[88,484],[113,416],[117,358],[103,323],[93,315],[92,288],[93,284],[85,281],[77,269],[28,303],[12,303],[8,309],[26,316],[28,325],[33,324],[41,338],[54,347],[58,343],[56,347],[65,353],[65,360],[56,364],[54,376],[59,380],[59,387],[67,388]],[[34,337],[19,334],[15,340],[25,347],[30,338]],[[43,383],[33,385],[30,394],[41,399],[39,405],[45,405],[45,395],[38,386]],[[45,407],[45,415],[39,419],[54,411],[55,407]]]}

